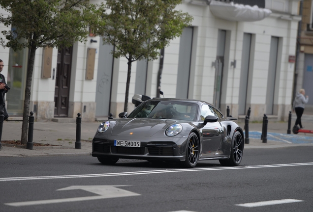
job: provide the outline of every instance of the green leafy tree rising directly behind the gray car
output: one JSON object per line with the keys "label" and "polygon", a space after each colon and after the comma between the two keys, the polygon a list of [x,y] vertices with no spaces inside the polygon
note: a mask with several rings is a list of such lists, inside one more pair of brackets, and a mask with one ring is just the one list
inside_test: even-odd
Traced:
{"label": "green leafy tree rising directly behind the gray car", "polygon": [[[159,50],[182,34],[191,24],[188,13],[175,10],[182,0],[107,0],[105,26],[95,26],[104,44],[115,46],[113,57],[124,56],[128,62],[124,111],[127,111],[131,63],[154,60]],[[104,23],[104,22],[103,22]]]}

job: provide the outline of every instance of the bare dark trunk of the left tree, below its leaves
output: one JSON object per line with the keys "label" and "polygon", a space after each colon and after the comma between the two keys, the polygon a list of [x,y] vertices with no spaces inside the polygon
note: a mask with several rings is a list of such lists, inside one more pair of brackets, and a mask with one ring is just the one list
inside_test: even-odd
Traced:
{"label": "bare dark trunk of the left tree, below its leaves", "polygon": [[31,101],[31,79],[33,72],[33,64],[35,61],[36,48],[31,48],[30,57],[27,66],[27,77],[25,87],[25,99],[24,99],[24,110],[23,110],[23,124],[22,124],[22,137],[21,144],[26,145],[27,133],[28,133],[28,116],[30,112],[30,101]]}

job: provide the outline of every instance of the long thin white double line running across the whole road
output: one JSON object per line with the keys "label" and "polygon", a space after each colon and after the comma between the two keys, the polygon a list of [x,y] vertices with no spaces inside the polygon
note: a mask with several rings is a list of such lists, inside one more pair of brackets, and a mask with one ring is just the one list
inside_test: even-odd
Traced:
{"label": "long thin white double line running across the whole road", "polygon": [[23,180],[51,180],[51,179],[68,179],[68,178],[91,178],[91,177],[115,177],[128,175],[145,175],[145,174],[162,174],[174,172],[194,172],[194,171],[217,171],[217,170],[231,170],[231,169],[253,169],[253,168],[278,168],[288,166],[305,166],[313,165],[309,163],[289,163],[289,164],[273,164],[273,165],[256,165],[256,166],[235,166],[235,167],[214,167],[214,168],[192,168],[192,169],[165,169],[165,170],[151,170],[151,171],[137,171],[137,172],[119,172],[119,173],[104,173],[104,174],[88,174],[88,175],[59,175],[59,176],[39,176],[39,177],[11,177],[0,178],[0,182],[6,181],[23,181]]}

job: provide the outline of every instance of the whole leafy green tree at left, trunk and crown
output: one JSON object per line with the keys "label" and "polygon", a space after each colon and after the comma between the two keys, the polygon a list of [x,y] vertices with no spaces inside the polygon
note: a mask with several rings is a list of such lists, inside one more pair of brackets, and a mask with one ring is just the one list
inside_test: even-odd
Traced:
{"label": "whole leafy green tree at left, trunk and crown", "polygon": [[0,39],[1,45],[14,51],[24,48],[30,51],[21,136],[21,143],[26,144],[36,50],[64,48],[86,41],[89,25],[102,22],[102,12],[97,5],[89,4],[89,0],[0,0],[0,6],[11,14],[0,16],[0,23],[11,27],[1,31],[5,37]]}

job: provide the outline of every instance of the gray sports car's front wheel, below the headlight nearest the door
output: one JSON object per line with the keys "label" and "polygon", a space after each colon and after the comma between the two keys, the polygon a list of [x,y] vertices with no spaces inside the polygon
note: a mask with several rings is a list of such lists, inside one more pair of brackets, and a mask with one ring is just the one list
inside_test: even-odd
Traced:
{"label": "gray sports car's front wheel, below the headlight nearest the door", "polygon": [[199,159],[200,143],[198,136],[191,132],[187,140],[186,159],[181,161],[182,167],[193,168],[197,165]]}

